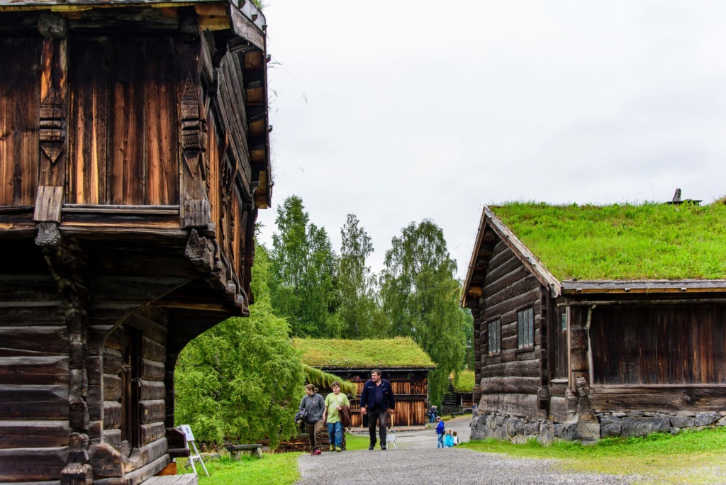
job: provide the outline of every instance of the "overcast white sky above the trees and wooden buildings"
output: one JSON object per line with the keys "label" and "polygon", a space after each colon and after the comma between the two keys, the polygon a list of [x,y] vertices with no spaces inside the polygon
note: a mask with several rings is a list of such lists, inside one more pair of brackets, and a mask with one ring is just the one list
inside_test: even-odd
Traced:
{"label": "overcast white sky above the trees and wooden buildings", "polygon": [[[378,272],[410,221],[465,277],[485,204],[726,195],[725,1],[269,0],[273,205]],[[273,209],[260,211],[263,242]]]}

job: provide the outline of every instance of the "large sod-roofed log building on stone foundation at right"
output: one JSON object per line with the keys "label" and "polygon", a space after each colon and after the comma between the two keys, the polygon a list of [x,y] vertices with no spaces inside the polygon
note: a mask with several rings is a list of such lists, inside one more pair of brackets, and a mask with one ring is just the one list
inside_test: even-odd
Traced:
{"label": "large sod-roofed log building on stone foundation at right", "polygon": [[726,425],[725,237],[726,207],[697,201],[484,208],[473,438]]}

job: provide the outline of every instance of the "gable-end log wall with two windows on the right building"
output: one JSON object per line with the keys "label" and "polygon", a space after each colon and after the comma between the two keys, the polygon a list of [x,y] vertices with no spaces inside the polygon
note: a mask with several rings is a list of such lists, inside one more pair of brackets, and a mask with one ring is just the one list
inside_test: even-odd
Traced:
{"label": "gable-end log wall with two windows on the right building", "polygon": [[[547,413],[540,409],[537,396],[542,386],[540,285],[501,240],[491,255],[484,293],[478,298],[478,404],[481,409],[544,418]],[[517,312],[528,308],[534,310],[534,346],[518,349]],[[494,319],[502,325],[502,350],[489,355],[487,323]]]}

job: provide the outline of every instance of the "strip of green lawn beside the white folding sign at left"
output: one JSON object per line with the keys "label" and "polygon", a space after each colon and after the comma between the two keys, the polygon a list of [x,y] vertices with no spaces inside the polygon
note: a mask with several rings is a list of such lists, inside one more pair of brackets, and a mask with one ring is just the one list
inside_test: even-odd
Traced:
{"label": "strip of green lawn beside the white folding sign at left", "polygon": [[[195,462],[199,483],[206,485],[291,485],[300,478],[298,457],[301,453],[264,453],[262,458],[245,455],[236,461],[223,457],[219,460],[205,462],[209,470],[209,478],[204,475],[201,465]],[[192,467],[184,468],[178,460],[178,473],[192,473]]]}

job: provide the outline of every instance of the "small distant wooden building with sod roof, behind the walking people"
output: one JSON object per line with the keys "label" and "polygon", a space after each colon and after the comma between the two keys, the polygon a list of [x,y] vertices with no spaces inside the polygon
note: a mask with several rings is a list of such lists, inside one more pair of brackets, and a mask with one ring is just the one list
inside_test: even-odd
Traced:
{"label": "small distant wooden building with sod roof, behind the walking people", "polygon": [[431,357],[410,338],[352,341],[342,339],[295,338],[293,345],[303,353],[303,363],[338,375],[357,387],[351,401],[353,428],[363,427],[360,396],[370,372],[380,369],[396,399],[393,426],[423,426],[428,423],[428,371],[435,366]]}

